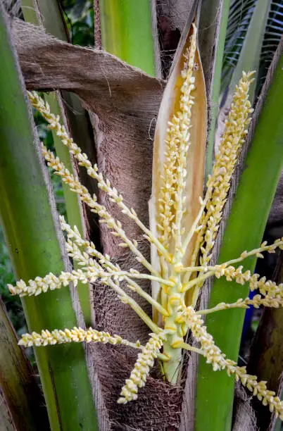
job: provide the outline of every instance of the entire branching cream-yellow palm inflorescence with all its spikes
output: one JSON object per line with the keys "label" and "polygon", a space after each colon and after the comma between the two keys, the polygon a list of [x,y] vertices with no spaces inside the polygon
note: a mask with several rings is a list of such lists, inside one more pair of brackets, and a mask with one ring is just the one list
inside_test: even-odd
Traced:
{"label": "entire branching cream-yellow palm inflorescence with all its spikes", "polygon": [[[95,282],[99,280],[106,287],[113,289],[118,298],[130,306],[137,315],[144,320],[151,330],[149,341],[140,346],[139,342],[129,342],[118,335],[109,335],[108,332],[99,332],[92,328],[82,330],[74,327],[65,330],[43,330],[41,334],[32,332],[25,334],[19,344],[23,346],[46,346],[47,344],[60,344],[69,342],[102,342],[110,344],[123,344],[142,349],[138,354],[134,369],[122,388],[118,402],[125,404],[137,399],[137,392],[146,383],[154,360],[163,362],[165,377],[169,382],[177,382],[176,370],[182,363],[182,349],[196,351],[206,357],[206,361],[213,366],[213,370],[225,369],[229,375],[234,374],[263,404],[268,404],[270,411],[275,411],[277,416],[283,416],[283,404],[272,391],[269,391],[265,382],[258,382],[255,376],[246,373],[244,367],[238,367],[237,363],[230,361],[225,354],[215,345],[213,337],[208,334],[203,325],[202,315],[213,313],[227,308],[247,308],[253,306],[279,307],[283,305],[282,287],[275,282],[260,278],[257,274],[244,271],[243,267],[234,266],[250,256],[262,257],[263,252],[274,253],[277,249],[283,249],[283,238],[277,239],[274,244],[263,243],[258,249],[244,251],[241,256],[231,261],[210,266],[210,252],[215,243],[222,211],[227,200],[232,173],[237,164],[241,146],[249,126],[249,115],[252,112],[249,102],[249,87],[253,81],[253,73],[243,73],[236,88],[232,101],[231,111],[225,123],[225,132],[220,142],[220,149],[216,156],[213,173],[208,178],[206,195],[200,198],[199,214],[194,223],[187,226],[184,221],[184,206],[186,201],[186,179],[187,179],[187,157],[190,146],[190,127],[194,125],[191,121],[191,113],[197,99],[194,72],[196,61],[196,27],[193,25],[191,33],[191,44],[184,54],[184,67],[180,79],[182,87],[180,100],[177,103],[177,112],[172,115],[168,125],[166,137],[166,150],[164,154],[161,187],[158,190],[158,214],[156,216],[156,230],[154,235],[151,230],[139,220],[133,208],[128,208],[111,183],[103,178],[96,165],[82,153],[81,149],[68,136],[65,127],[61,125],[58,116],[50,112],[48,104],[36,94],[29,93],[30,101],[34,108],[42,113],[49,127],[61,138],[63,145],[67,146],[70,154],[77,160],[79,165],[87,170],[90,177],[96,180],[99,189],[108,194],[111,201],[120,208],[139,226],[144,237],[157,251],[159,264],[149,262],[142,252],[139,251],[137,241],[127,237],[125,230],[119,220],[108,213],[105,206],[101,205],[95,195],[89,193],[86,187],[70,173],[60,159],[42,147],[42,153],[47,164],[59,175],[65,184],[68,184],[73,192],[89,206],[90,210],[99,215],[100,223],[106,227],[115,237],[120,239],[120,246],[127,247],[132,251],[137,261],[142,263],[146,269],[145,273],[129,268],[121,270],[117,263],[113,263],[108,255],[101,254],[96,250],[92,242],[82,238],[77,227],[70,227],[65,219],[61,217],[61,228],[65,231],[67,239],[65,242],[68,255],[77,262],[80,269],[72,270],[70,273],[62,272],[59,275],[52,273],[45,277],[36,277],[34,280],[25,282],[19,280],[15,286],[9,285],[11,294],[37,295],[48,290],[60,289],[73,282]],[[194,95],[193,95],[194,92]],[[194,242],[194,251],[189,256],[190,266],[185,266],[184,256],[191,244]],[[156,267],[157,266],[157,267]],[[258,289],[258,294],[253,299],[238,299],[232,304],[220,303],[213,308],[195,311],[196,301],[204,280],[208,277],[225,277],[226,280],[234,280],[240,285],[248,283],[251,290]],[[149,280],[158,284],[160,294],[153,298],[139,285],[139,280]],[[121,282],[126,282],[127,287],[137,292],[153,307],[153,316],[158,315],[160,319],[151,318],[137,304],[125,289]],[[190,302],[187,292],[192,289]],[[158,320],[158,323],[156,321]],[[187,331],[191,330],[200,349],[184,342]],[[162,351],[161,351],[162,349]]]}

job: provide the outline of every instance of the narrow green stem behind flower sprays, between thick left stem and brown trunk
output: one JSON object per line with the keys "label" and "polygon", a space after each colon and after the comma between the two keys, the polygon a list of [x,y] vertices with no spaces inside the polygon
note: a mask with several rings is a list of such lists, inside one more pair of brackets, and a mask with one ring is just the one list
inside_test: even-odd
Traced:
{"label": "narrow green stem behind flower sprays, between thick left stem and brown trunk", "polygon": [[[68,29],[65,25],[65,20],[61,13],[61,7],[57,0],[23,0],[22,10],[24,18],[27,22],[33,23],[35,25],[42,25],[47,32],[51,35],[61,39],[65,42],[69,41]],[[68,104],[73,108],[76,113],[68,116],[68,112],[62,103],[62,97]],[[72,131],[72,128],[80,130],[80,140],[77,142],[81,148],[84,148],[85,141],[89,140],[88,135],[88,124],[85,119],[85,114],[82,112],[82,107],[77,106],[78,102],[75,99],[75,95],[68,94],[67,92],[53,92],[50,94],[45,94],[44,99],[49,103],[51,112],[55,115],[60,115],[61,119],[67,130]],[[78,112],[78,110],[80,112]],[[67,118],[68,117],[68,118]],[[56,154],[59,156],[61,161],[64,163],[65,167],[70,170],[71,173],[74,172],[73,160],[70,158],[70,153],[68,149],[63,146],[61,139],[58,138],[56,132],[52,131],[52,136],[54,139],[54,146],[56,149]],[[74,137],[75,139],[75,137]],[[81,142],[84,144],[81,145]],[[63,184],[63,194],[66,206],[66,213],[68,216],[68,223],[71,226],[77,226],[80,234],[84,234],[84,226],[82,221],[82,208],[78,196],[70,191],[68,185]],[[77,264],[75,263],[75,268],[77,269]],[[84,320],[87,326],[92,325],[92,312],[90,306],[89,298],[89,285],[82,284],[79,282],[77,286],[77,292],[80,299],[80,305],[82,307],[82,313],[84,315]]]}

